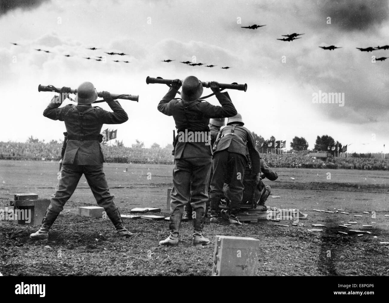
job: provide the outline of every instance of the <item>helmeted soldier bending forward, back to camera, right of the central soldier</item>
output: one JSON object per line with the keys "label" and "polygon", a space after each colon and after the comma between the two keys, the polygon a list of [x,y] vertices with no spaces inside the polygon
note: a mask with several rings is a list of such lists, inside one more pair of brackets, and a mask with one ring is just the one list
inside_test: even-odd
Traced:
{"label": "helmeted soldier bending forward, back to camera, right of the central soldier", "polygon": [[[237,114],[228,119],[227,126],[221,130],[219,142],[215,142],[214,159],[212,163],[213,176],[211,180],[210,204],[211,223],[217,223],[219,201],[223,197],[224,183],[230,188],[231,215],[230,224],[242,225],[238,220],[240,202],[243,198],[243,180],[245,167],[252,167],[255,182],[260,178],[259,152],[255,149],[255,141],[251,131],[244,127],[242,116]],[[214,147],[215,147],[214,145]],[[249,164],[249,159],[251,159]]]}

